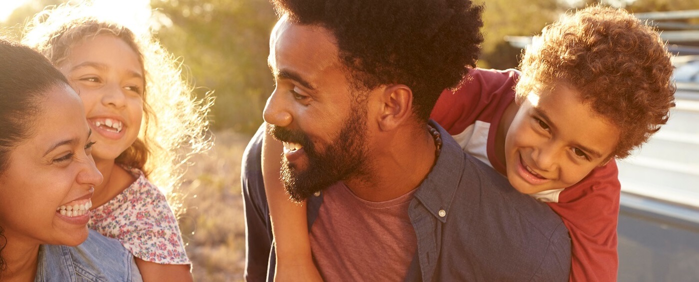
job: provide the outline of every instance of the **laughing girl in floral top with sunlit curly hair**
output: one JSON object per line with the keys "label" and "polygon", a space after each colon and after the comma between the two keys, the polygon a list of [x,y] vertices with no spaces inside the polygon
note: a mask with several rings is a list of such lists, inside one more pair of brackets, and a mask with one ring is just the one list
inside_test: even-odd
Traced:
{"label": "laughing girl in floral top with sunlit curly hair", "polygon": [[210,146],[203,138],[210,104],[192,97],[180,64],[150,34],[94,15],[87,5],[45,10],[23,39],[64,73],[85,103],[99,143],[94,160],[105,178],[95,187],[89,227],[121,241],[145,281],[191,281],[164,192],[173,195],[182,164]]}

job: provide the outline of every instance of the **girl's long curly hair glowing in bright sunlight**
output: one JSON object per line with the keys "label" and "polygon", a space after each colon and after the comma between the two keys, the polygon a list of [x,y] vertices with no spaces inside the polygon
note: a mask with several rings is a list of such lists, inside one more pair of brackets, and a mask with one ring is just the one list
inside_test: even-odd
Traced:
{"label": "girl's long curly hair glowing in bright sunlight", "polygon": [[127,22],[106,20],[90,2],[48,7],[24,27],[22,42],[36,48],[60,66],[73,45],[85,38],[108,34],[122,39],[137,54],[145,73],[143,120],[138,139],[117,157],[117,164],[135,167],[165,195],[175,211],[181,199],[176,192],[187,160],[212,145],[206,136],[206,115],[213,98],[196,99],[193,87],[182,77],[182,63],[150,34],[136,34]]}

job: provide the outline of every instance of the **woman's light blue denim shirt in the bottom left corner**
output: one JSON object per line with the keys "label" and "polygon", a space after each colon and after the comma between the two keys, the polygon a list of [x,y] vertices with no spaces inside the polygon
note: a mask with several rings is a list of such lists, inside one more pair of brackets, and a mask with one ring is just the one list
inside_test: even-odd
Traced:
{"label": "woman's light blue denim shirt in the bottom left corner", "polygon": [[36,282],[142,282],[134,255],[94,230],[79,246],[42,245]]}

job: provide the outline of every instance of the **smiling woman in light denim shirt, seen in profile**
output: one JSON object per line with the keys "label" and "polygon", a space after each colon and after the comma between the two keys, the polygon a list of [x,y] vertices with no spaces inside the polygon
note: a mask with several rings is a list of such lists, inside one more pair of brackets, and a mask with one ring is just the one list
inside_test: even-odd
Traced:
{"label": "smiling woman in light denim shirt, seen in profile", "polygon": [[4,40],[0,77],[0,280],[140,281],[118,241],[88,232],[103,178],[78,95],[41,54]]}

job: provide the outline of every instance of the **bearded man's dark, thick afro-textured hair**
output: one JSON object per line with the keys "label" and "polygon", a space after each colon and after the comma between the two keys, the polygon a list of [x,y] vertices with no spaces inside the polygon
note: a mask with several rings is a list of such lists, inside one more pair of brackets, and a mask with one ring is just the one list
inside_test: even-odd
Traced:
{"label": "bearded man's dark, thick afro-textured hair", "polygon": [[468,0],[274,0],[278,15],[324,27],[358,89],[404,84],[426,122],[445,88],[475,66],[482,6]]}

